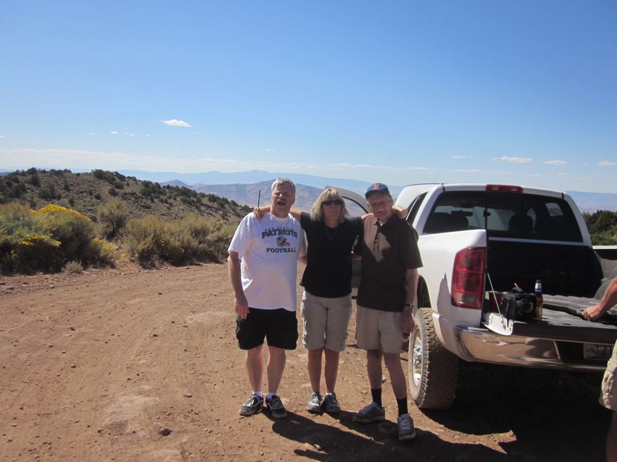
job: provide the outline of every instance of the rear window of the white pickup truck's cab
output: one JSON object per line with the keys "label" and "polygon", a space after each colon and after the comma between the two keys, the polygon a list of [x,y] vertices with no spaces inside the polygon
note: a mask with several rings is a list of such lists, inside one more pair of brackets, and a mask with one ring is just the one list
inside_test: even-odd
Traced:
{"label": "rear window of the white pickup truck's cab", "polygon": [[446,191],[439,195],[423,233],[486,229],[489,236],[582,242],[568,203],[521,193]]}

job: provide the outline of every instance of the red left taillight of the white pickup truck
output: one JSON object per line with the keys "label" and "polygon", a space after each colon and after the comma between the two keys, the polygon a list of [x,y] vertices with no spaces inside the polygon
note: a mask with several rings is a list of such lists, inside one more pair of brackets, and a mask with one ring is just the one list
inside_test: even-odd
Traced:
{"label": "red left taillight of the white pickup truck", "polygon": [[484,302],[485,249],[470,248],[457,253],[452,270],[452,304],[481,309]]}

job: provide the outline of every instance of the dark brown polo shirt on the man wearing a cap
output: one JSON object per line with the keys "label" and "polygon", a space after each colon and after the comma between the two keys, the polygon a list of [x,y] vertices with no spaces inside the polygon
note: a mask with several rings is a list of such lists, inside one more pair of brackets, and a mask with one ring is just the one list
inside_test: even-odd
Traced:
{"label": "dark brown polo shirt on the man wearing a cap", "polygon": [[416,230],[397,214],[383,225],[375,218],[366,219],[364,240],[354,252],[362,255],[357,304],[401,312],[407,299],[407,270],[422,266]]}

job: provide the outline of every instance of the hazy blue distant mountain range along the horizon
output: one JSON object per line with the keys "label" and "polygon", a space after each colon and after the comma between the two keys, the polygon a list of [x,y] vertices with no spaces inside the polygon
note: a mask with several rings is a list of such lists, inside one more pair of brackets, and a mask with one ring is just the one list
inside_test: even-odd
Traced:
{"label": "hazy blue distant mountain range along the horizon", "polygon": [[[2,174],[0,170],[0,175]],[[262,170],[246,172],[223,173],[217,171],[201,173],[176,172],[146,172],[141,170],[121,170],[125,176],[134,176],[138,180],[149,180],[161,185],[184,186],[204,192],[213,193],[218,197],[234,200],[240,205],[260,205],[270,200],[270,185],[276,177],[291,178],[298,185],[296,194],[296,208],[309,210],[321,190],[326,186],[348,189],[363,195],[369,182],[347,178],[327,178],[302,173],[274,173]],[[394,197],[399,195],[404,186],[388,184]],[[576,202],[582,212],[593,213],[597,210],[617,211],[617,194],[566,191]],[[359,213],[352,211],[352,213]]]}

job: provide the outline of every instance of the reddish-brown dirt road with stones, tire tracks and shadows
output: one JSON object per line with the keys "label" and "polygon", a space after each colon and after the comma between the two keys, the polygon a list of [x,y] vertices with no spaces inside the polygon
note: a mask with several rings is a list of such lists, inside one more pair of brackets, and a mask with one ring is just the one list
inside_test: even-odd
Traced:
{"label": "reddish-brown dirt road with stones, tire tracks and shadows", "polygon": [[305,411],[299,344],[280,387],[288,418],[242,417],[250,390],[234,318],[221,264],[0,278],[0,460],[603,460],[610,414],[598,386],[573,376],[522,382],[465,367],[450,410],[410,403],[418,436],[405,443],[390,434],[386,381],[386,421],[355,424],[370,391],[354,317],[340,415]]}

